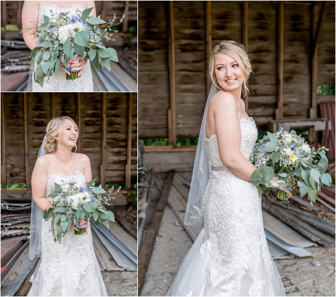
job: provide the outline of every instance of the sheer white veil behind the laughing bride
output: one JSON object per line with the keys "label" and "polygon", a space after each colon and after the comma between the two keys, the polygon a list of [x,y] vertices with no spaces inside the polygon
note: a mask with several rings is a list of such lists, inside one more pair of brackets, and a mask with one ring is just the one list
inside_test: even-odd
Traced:
{"label": "sheer white veil behind the laughing bride", "polygon": [[[47,152],[44,149],[44,143],[46,140],[47,136],[44,136],[37,158],[47,154]],[[42,219],[43,219],[43,212],[34,202],[32,195],[32,213],[30,218],[30,238],[29,238],[29,258],[31,260],[34,257],[41,257]]]}

